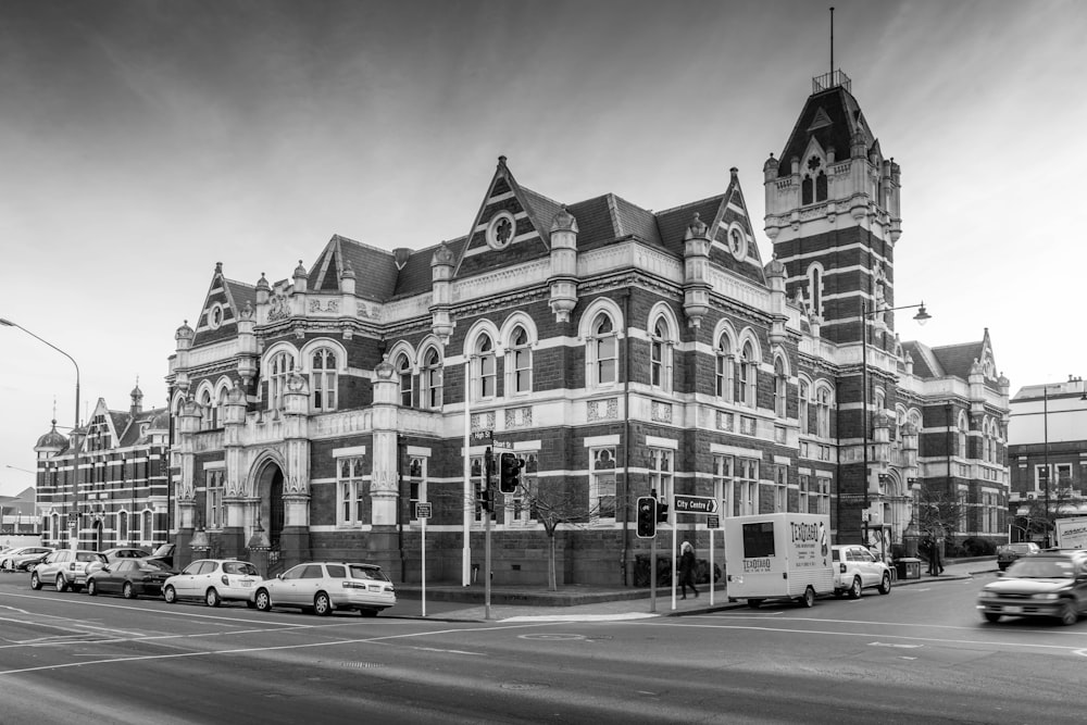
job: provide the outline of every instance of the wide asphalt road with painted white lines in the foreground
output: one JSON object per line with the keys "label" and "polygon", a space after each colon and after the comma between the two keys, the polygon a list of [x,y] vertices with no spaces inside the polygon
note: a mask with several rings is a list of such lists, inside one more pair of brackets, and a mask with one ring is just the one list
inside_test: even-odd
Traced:
{"label": "wide asphalt road with painted white lines in the foreground", "polygon": [[0,721],[1083,722],[1087,618],[984,624],[986,577],[812,609],[484,623],[35,592],[0,575]]}

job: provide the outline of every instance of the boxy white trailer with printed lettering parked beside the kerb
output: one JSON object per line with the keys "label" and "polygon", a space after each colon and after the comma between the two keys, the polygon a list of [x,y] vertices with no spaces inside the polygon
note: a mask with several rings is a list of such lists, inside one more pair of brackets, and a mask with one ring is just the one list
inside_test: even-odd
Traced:
{"label": "boxy white trailer with printed lettering parked beside the kerb", "polygon": [[729,600],[757,608],[767,599],[812,607],[834,593],[830,517],[770,513],[733,516],[725,525],[725,576]]}

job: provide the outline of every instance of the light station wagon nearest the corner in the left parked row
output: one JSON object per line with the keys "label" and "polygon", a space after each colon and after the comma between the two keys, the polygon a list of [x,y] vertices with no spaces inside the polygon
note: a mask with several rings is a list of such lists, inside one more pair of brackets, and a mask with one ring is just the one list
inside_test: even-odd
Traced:
{"label": "light station wagon nearest the corner in the left parked row", "polygon": [[380,566],[351,562],[310,562],[261,582],[257,609],[298,607],[326,616],[338,609],[358,610],[363,616],[397,603],[396,589]]}

